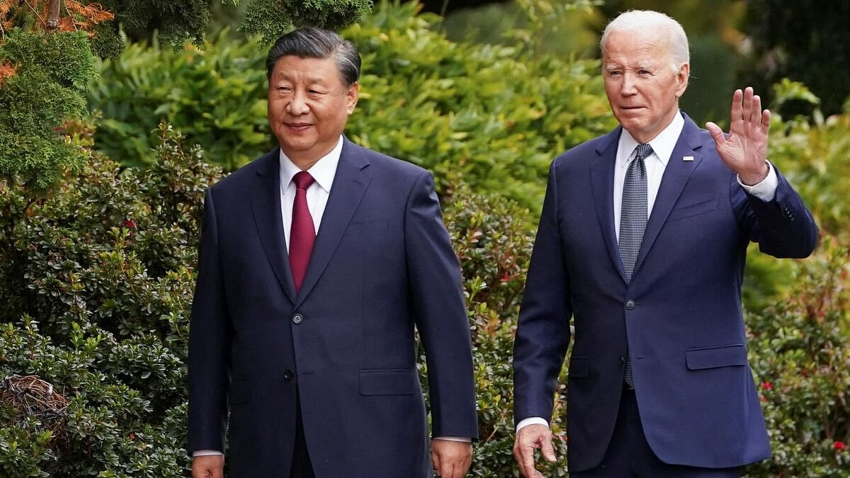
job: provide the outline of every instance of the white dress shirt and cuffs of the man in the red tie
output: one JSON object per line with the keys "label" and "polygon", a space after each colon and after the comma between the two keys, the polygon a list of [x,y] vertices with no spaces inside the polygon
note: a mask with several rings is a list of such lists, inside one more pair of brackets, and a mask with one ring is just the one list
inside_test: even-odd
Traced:
{"label": "white dress shirt and cuffs of the man in the red tie", "polygon": [[[322,156],[319,161],[310,167],[307,172],[313,176],[314,182],[307,188],[307,208],[310,212],[310,217],[313,218],[313,227],[316,234],[319,234],[319,226],[321,218],[325,214],[327,206],[327,198],[331,196],[331,185],[333,178],[337,175],[337,165],[339,164],[339,156],[343,152],[343,137],[339,137],[337,145],[333,147],[331,152]],[[283,219],[283,232],[286,237],[286,250],[289,250],[289,230],[292,229],[292,205],[295,202],[295,183],[292,178],[301,172],[295,163],[280,150],[280,215]],[[471,438],[465,436],[439,436],[437,440],[449,441],[472,441]],[[197,450],[192,452],[193,457],[201,457],[205,455],[224,455],[218,450]]]}

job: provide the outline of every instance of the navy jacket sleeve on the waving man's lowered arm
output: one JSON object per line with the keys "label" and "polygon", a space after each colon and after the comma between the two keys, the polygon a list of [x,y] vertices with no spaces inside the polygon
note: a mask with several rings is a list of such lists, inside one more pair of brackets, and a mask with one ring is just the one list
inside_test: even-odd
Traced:
{"label": "navy jacket sleeve on the waving man's lowered arm", "polygon": [[513,418],[516,423],[529,417],[550,420],[558,373],[570,344],[570,276],[564,265],[558,230],[556,162],[549,169],[514,341]]}

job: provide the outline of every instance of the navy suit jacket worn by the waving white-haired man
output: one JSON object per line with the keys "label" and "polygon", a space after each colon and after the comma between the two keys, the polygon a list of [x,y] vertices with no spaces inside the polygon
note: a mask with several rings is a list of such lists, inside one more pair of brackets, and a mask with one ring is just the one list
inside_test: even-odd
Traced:
{"label": "navy suit jacket worn by the waving white-haired man", "polygon": [[614,227],[620,133],[576,146],[550,169],[519,313],[515,419],[551,417],[572,316],[570,470],[604,456],[626,350],[646,438],[661,460],[725,468],[767,458],[740,303],[746,248],[753,241],[776,257],[806,257],[817,226],[780,174],[773,201],[746,194],[711,135],[686,116],[626,283]]}

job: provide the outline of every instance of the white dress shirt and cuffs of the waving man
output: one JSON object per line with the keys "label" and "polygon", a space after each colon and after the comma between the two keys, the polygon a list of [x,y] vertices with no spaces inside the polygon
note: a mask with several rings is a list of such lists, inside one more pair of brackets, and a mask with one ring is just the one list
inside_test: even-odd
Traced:
{"label": "white dress shirt and cuffs of the waving man", "polygon": [[[652,216],[652,207],[655,205],[655,196],[658,196],[658,190],[661,185],[661,178],[664,176],[664,169],[667,167],[667,162],[670,162],[673,148],[679,140],[679,135],[682,134],[684,127],[684,118],[681,114],[673,117],[673,121],[667,125],[655,138],[649,140],[649,145],[652,146],[652,153],[643,158],[646,164],[646,187],[647,187],[647,213]],[[634,160],[635,148],[638,146],[638,141],[632,138],[632,134],[623,128],[620,134],[620,142],[617,144],[617,156],[614,166],[614,228],[617,238],[620,238],[620,212],[623,204],[623,183],[626,181],[626,169]],[[677,161],[683,161],[678,158]],[[768,177],[762,179],[762,182],[757,185],[748,186],[741,182],[738,177],[738,184],[745,191],[753,196],[761,199],[764,202],[773,201],[776,195],[776,188],[779,185],[779,179],[776,177],[776,171],[773,165],[768,162]],[[543,424],[549,425],[545,418],[529,417],[524,418],[517,424],[517,431],[526,425]]]}

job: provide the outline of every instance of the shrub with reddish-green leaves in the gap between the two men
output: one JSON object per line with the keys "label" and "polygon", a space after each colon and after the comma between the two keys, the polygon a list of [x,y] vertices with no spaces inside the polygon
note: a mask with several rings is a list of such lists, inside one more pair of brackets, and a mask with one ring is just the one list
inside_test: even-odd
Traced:
{"label": "shrub with reddish-green leaves in the gap between the two men", "polygon": [[[509,357],[533,246],[528,230],[530,213],[499,195],[473,193],[467,185],[450,187],[444,202],[445,225],[462,265],[473,335],[480,440],[473,448],[470,474],[519,476],[512,454],[513,369]],[[563,405],[561,397],[553,420],[561,459],[546,465],[547,476],[566,475]]]}

